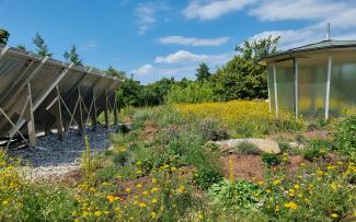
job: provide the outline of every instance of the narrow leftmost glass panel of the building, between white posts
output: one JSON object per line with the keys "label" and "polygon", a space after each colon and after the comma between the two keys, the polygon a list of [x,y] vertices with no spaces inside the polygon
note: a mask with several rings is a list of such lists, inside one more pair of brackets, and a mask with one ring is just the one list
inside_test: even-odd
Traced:
{"label": "narrow leftmost glass panel of the building, between white posts", "polygon": [[295,110],[294,79],[295,72],[292,60],[276,62],[277,100],[279,110],[291,113]]}

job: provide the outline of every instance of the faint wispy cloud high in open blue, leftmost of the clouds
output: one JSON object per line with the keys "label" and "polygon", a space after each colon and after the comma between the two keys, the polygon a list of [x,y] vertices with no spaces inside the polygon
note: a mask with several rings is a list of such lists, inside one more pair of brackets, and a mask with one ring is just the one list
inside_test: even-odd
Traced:
{"label": "faint wispy cloud high in open blue, leftmost of the clouds", "polygon": [[169,10],[169,8],[162,2],[139,3],[135,9],[139,34],[143,35],[148,30],[153,27],[157,22],[157,13],[165,10]]}

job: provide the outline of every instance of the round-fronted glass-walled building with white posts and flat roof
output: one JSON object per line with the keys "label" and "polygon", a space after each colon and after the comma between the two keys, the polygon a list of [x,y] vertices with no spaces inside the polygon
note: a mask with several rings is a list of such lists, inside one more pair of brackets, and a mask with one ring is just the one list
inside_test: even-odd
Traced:
{"label": "round-fronted glass-walled building with white posts and flat roof", "polygon": [[271,110],[296,116],[337,116],[356,107],[356,40],[292,48],[263,59],[268,70]]}

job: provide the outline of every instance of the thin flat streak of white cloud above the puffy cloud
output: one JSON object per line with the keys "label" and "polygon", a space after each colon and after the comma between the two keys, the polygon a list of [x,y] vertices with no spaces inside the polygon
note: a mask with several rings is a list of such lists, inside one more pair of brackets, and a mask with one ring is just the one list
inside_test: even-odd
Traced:
{"label": "thin flat streak of white cloud above the puffy cloud", "polygon": [[185,37],[180,35],[161,37],[158,39],[160,44],[176,44],[176,45],[191,45],[191,46],[221,46],[228,43],[230,37],[218,37],[218,38],[195,38]]}

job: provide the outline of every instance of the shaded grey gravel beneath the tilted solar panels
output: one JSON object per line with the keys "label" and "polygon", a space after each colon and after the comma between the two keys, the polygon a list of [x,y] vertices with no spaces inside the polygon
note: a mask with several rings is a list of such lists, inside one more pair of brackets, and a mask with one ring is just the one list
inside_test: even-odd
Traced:
{"label": "shaded grey gravel beneath the tilted solar panels", "polygon": [[[115,130],[97,126],[96,131],[87,131],[92,153],[111,147],[110,135]],[[57,135],[41,137],[35,149],[9,150],[9,155],[21,157],[34,167],[77,165],[84,149],[84,139],[72,129],[66,133],[67,139],[59,141]]]}

